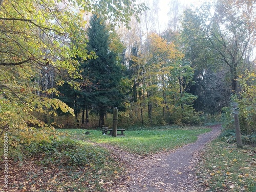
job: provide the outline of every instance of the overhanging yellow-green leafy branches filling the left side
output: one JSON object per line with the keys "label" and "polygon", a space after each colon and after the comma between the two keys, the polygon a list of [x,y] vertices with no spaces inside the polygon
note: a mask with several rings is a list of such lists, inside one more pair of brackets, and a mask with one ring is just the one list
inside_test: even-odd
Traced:
{"label": "overhanging yellow-green leafy branches filling the left side", "polygon": [[[0,1],[0,124],[10,149],[19,143],[49,139],[47,114],[56,109],[73,114],[58,99],[57,86],[81,78],[79,62],[95,58],[87,50],[84,14],[129,22],[144,9],[133,1]],[[79,6],[79,8],[77,8]],[[83,9],[81,9],[83,8]],[[1,139],[3,139],[1,137]],[[0,140],[2,142],[2,140]]]}

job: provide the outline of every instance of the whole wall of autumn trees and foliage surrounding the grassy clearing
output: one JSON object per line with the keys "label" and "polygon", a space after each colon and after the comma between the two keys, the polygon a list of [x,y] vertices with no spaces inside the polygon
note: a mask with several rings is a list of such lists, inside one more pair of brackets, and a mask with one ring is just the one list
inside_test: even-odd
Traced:
{"label": "whole wall of autumn trees and foliage surrounding the grassy clearing", "polygon": [[255,132],[255,6],[171,0],[162,30],[159,0],[1,0],[1,135],[17,147],[54,127],[111,127],[114,107],[124,128],[220,116],[232,128],[230,102]]}

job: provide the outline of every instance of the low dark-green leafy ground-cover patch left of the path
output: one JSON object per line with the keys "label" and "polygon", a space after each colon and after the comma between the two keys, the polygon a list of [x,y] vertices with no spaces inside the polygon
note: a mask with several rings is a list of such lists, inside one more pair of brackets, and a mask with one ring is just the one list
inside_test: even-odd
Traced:
{"label": "low dark-green leafy ground-cover patch left of the path", "polygon": [[90,163],[104,161],[99,149],[69,138],[50,142],[33,142],[30,145],[24,145],[23,151],[25,156],[36,157],[47,166],[87,166]]}

